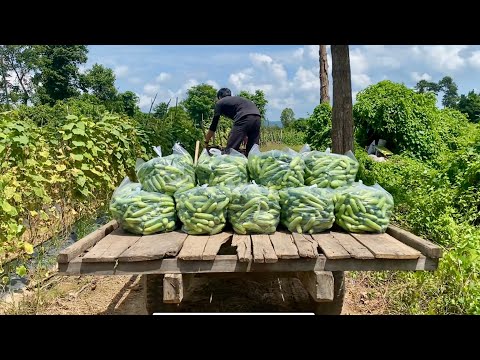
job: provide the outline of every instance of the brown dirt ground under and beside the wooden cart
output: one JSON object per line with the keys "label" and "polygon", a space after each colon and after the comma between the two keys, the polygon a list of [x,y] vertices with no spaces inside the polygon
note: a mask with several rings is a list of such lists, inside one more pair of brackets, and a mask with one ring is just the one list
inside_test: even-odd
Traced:
{"label": "brown dirt ground under and beside the wooden cart", "polygon": [[[342,314],[383,314],[381,289],[369,286],[363,276],[346,273]],[[253,281],[194,279],[190,296],[180,312],[311,312],[308,294],[297,279]],[[54,276],[41,290],[3,302],[4,314],[146,315],[141,276]]]}

